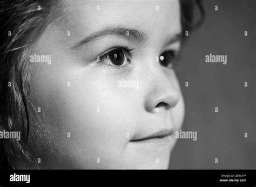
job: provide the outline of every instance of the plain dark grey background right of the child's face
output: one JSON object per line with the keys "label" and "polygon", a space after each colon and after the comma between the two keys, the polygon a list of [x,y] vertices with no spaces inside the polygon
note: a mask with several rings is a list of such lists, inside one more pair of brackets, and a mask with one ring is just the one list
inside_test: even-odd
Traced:
{"label": "plain dark grey background right of the child's face", "polygon": [[[197,141],[178,139],[170,169],[255,169],[256,1],[203,4],[205,22],[190,33],[177,69],[186,104],[182,130],[197,131]],[[210,53],[227,55],[227,64],[206,63]]]}

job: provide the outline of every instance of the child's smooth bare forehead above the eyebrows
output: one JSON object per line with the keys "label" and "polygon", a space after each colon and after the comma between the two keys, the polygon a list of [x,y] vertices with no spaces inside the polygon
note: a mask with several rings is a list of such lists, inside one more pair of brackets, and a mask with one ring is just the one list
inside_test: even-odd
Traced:
{"label": "child's smooth bare forehead above the eyebrows", "polygon": [[73,0],[64,6],[69,21],[63,26],[81,37],[110,26],[135,28],[148,37],[181,30],[178,0]]}

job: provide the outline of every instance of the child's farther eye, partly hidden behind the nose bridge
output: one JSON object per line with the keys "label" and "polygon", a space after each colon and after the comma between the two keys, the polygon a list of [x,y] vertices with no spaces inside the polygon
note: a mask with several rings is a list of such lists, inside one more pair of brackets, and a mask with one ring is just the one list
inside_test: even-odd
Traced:
{"label": "child's farther eye, partly hidden behind the nose bridge", "polygon": [[162,66],[167,68],[174,68],[179,57],[178,51],[166,51],[159,57],[159,62]]}

